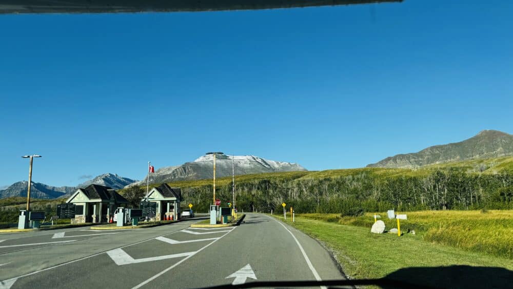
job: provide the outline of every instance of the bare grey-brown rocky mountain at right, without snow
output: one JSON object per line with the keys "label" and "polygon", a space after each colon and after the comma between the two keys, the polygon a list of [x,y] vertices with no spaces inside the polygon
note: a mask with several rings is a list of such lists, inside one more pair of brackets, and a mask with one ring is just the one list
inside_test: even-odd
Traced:
{"label": "bare grey-brown rocky mountain at right, without snow", "polygon": [[473,159],[513,156],[513,135],[498,130],[483,130],[470,139],[435,145],[419,152],[388,157],[367,167],[416,168]]}

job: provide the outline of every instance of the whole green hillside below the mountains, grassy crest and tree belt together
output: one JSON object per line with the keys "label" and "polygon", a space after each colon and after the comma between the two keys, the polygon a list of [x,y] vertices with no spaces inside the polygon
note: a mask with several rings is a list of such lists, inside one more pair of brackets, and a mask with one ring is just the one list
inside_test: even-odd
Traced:
{"label": "whole green hillside below the mountains, grassy crest and tree belt together", "polygon": [[[216,198],[231,200],[231,178],[216,179]],[[168,183],[181,187],[185,202],[206,211],[212,180]],[[470,160],[418,169],[355,168],[277,172],[235,177],[240,209],[270,211],[286,202],[302,213],[340,213],[396,208],[513,208],[513,157]],[[155,184],[153,186],[157,186]],[[121,191],[123,194],[123,190]]]}

